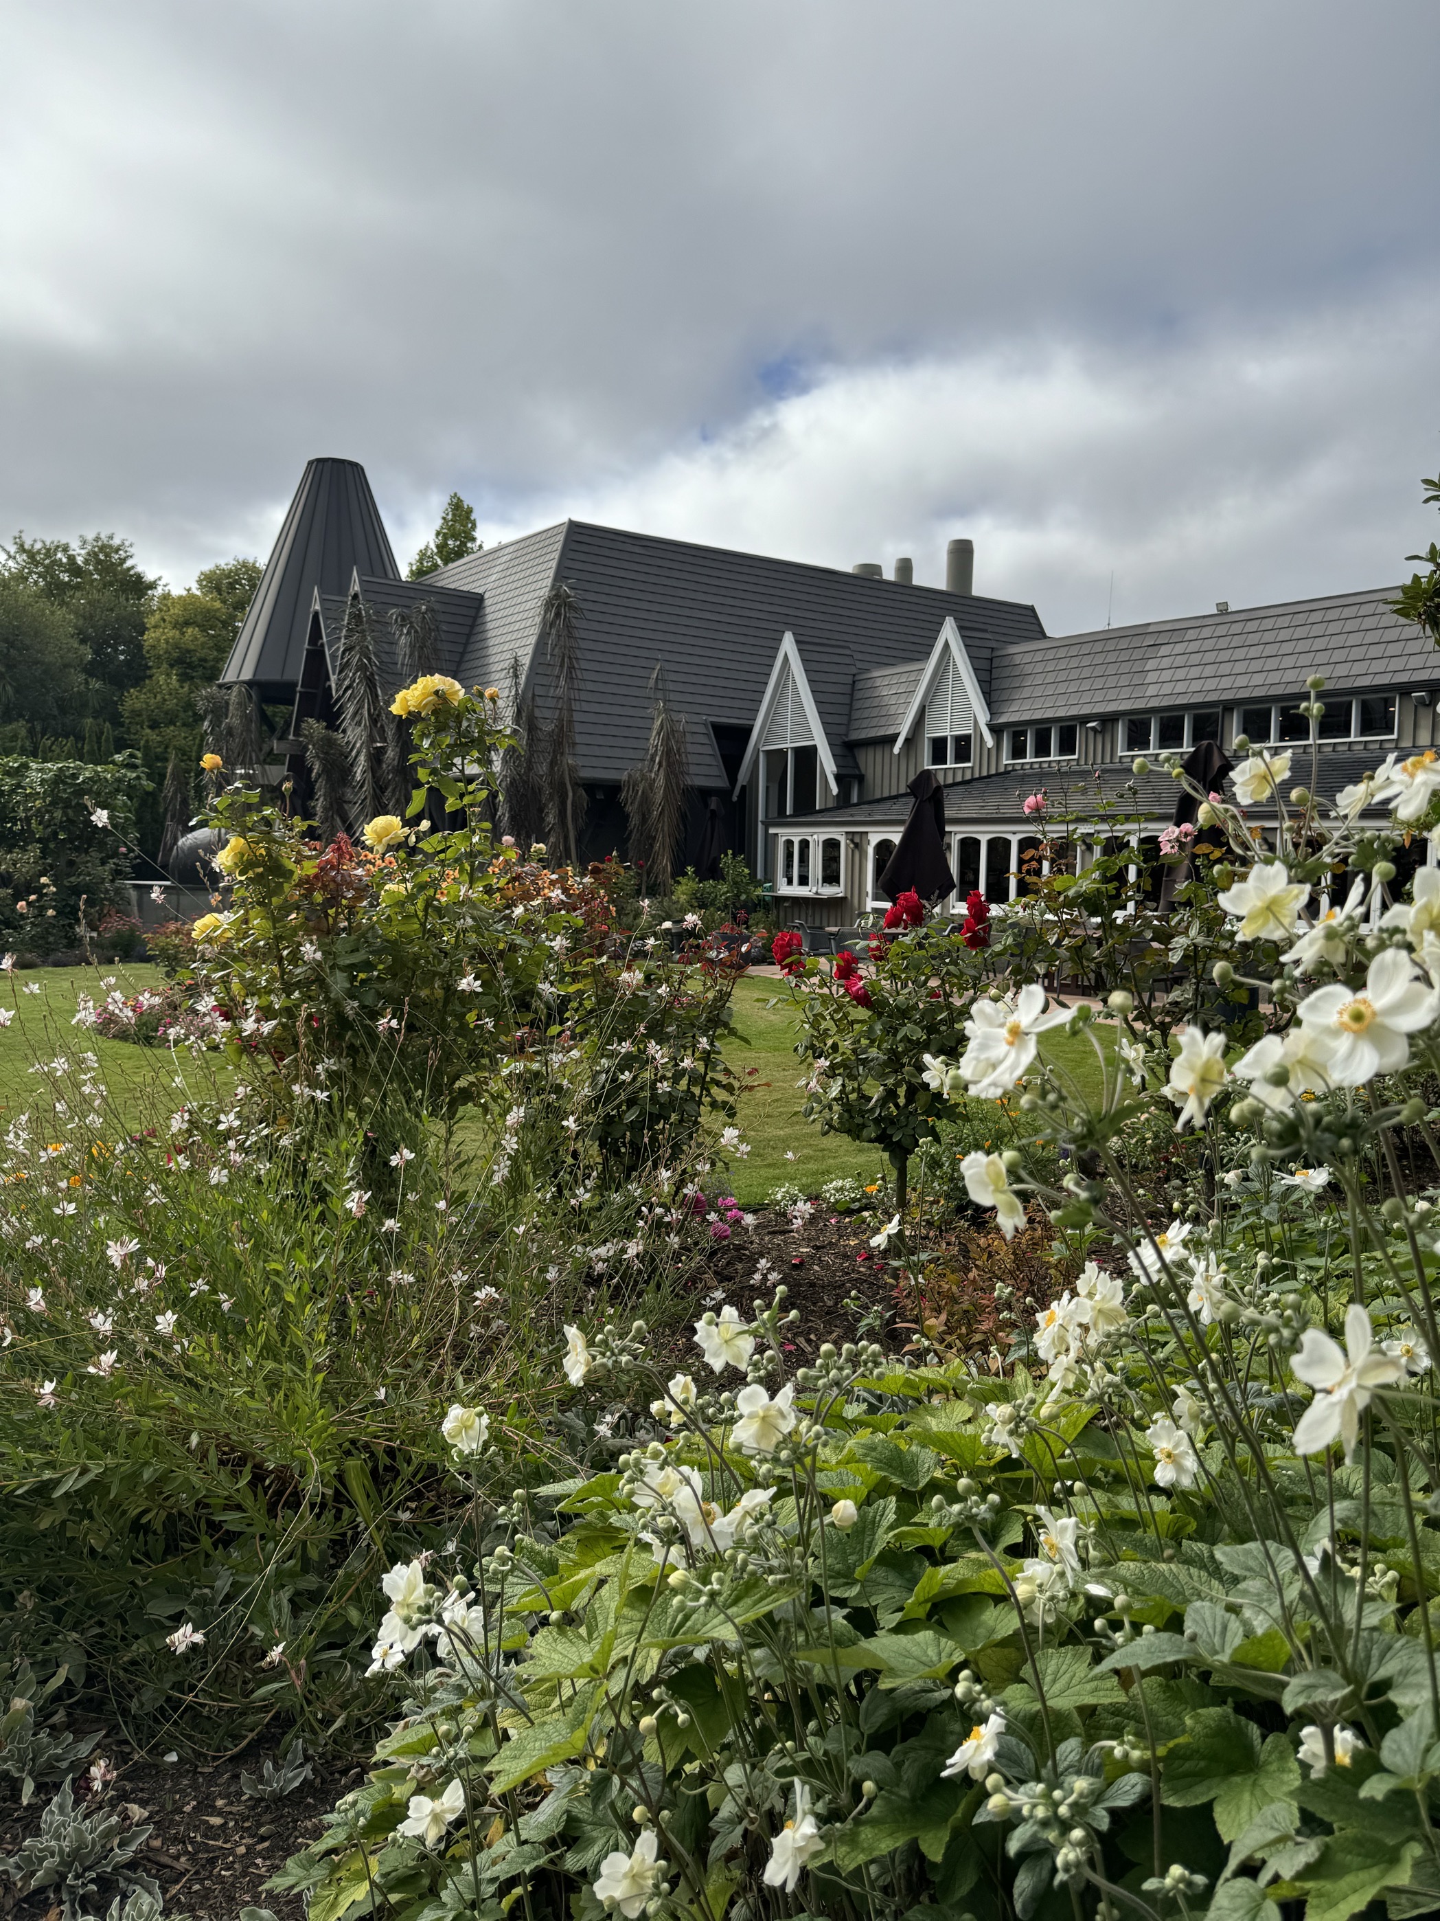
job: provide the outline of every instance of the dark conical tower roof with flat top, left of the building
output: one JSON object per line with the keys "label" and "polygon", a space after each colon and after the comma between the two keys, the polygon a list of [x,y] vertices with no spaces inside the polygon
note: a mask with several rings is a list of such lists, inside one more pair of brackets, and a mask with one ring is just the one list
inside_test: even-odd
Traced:
{"label": "dark conical tower roof with flat top, left of the building", "polygon": [[307,461],[223,680],[288,699],[300,680],[315,590],[348,594],[355,572],[399,580],[359,461]]}

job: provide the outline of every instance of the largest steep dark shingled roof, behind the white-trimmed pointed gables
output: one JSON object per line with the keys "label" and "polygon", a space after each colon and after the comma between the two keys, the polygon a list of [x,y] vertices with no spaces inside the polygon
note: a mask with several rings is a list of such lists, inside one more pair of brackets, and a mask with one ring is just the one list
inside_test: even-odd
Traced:
{"label": "largest steep dark shingled roof, behind the white-trimmed pointed gables", "polygon": [[[549,567],[545,544],[559,547]],[[515,580],[501,609],[495,569],[505,567]],[[1016,601],[566,521],[428,576],[484,594],[476,624],[484,638],[461,678],[503,684],[509,659],[518,655],[530,663],[541,713],[549,672],[538,626],[551,578],[574,588],[582,607],[576,745],[586,780],[620,780],[643,757],[657,663],[689,724],[691,778],[699,788],[722,788],[728,782],[707,722],[753,726],[787,630],[843,772],[854,768],[845,742],[856,670],[927,657],[945,617],[954,615],[983,686],[996,644],[1044,632],[1035,609]]]}

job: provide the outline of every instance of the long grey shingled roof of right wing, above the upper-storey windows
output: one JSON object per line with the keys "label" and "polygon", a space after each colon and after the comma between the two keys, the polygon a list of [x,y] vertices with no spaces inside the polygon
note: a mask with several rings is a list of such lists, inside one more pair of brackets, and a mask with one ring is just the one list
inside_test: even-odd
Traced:
{"label": "long grey shingled roof of right wing, above the upper-storey windows", "polygon": [[1006,647],[995,661],[991,717],[1008,726],[1298,699],[1309,674],[1325,674],[1334,693],[1434,686],[1440,655],[1419,626],[1390,613],[1394,594],[1332,594]]}

